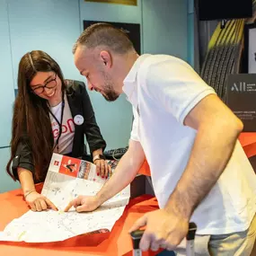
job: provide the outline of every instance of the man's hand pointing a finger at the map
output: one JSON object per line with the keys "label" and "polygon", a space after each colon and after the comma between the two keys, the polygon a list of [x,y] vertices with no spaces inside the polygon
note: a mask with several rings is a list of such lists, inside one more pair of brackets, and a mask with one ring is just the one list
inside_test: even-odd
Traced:
{"label": "man's hand pointing a finger at the map", "polygon": [[77,212],[91,212],[99,207],[101,204],[96,197],[90,196],[79,196],[76,199],[72,200],[67,207],[65,212],[67,212],[71,207],[75,207]]}

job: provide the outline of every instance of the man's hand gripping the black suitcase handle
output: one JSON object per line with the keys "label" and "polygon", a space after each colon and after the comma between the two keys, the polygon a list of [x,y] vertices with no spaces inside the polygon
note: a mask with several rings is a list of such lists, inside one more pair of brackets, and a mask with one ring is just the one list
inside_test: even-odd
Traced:
{"label": "man's hand gripping the black suitcase handle", "polygon": [[165,209],[155,210],[140,217],[129,233],[144,225],[146,230],[139,243],[139,248],[144,252],[149,249],[156,252],[159,248],[172,251],[189,231],[189,220],[167,212]]}

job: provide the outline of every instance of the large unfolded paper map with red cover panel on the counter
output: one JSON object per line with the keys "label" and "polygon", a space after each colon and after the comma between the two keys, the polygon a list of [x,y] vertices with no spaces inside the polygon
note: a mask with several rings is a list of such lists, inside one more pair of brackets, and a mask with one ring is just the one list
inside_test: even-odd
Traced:
{"label": "large unfolded paper map with red cover panel on the counter", "polygon": [[106,181],[97,176],[93,163],[53,154],[41,194],[50,199],[58,211],[28,211],[4,228],[0,241],[47,243],[79,234],[110,232],[128,204],[129,186],[93,212],[77,213],[74,207],[64,212],[71,199],[95,195]]}

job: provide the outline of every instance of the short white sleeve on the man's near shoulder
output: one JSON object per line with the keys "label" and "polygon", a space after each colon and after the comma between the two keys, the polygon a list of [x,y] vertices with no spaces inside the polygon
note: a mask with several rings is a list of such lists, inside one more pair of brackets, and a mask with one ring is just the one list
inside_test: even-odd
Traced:
{"label": "short white sleeve on the man's near shoulder", "polygon": [[176,57],[148,66],[144,86],[154,102],[181,124],[203,98],[216,94],[189,64]]}

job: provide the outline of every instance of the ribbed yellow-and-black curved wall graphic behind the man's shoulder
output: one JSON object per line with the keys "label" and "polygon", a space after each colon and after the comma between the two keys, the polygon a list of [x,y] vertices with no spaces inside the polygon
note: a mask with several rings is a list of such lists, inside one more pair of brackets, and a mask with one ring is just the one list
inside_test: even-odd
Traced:
{"label": "ribbed yellow-and-black curved wall graphic behind the man's shoulder", "polygon": [[226,101],[227,75],[239,73],[243,48],[244,20],[232,20],[221,28],[219,22],[209,41],[201,77]]}

